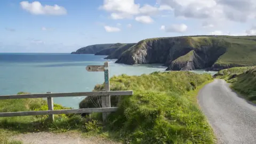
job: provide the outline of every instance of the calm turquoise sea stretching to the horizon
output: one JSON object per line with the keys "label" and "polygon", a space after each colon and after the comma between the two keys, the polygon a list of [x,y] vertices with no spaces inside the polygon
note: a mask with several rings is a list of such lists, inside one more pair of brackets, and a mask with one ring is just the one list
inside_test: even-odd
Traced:
{"label": "calm turquoise sea stretching to the horizon", "polygon": [[[106,60],[106,55],[69,53],[0,53],[0,95],[29,93],[90,92],[104,82],[101,71],[89,72],[89,65],[109,62],[109,75],[142,75],[165,71],[163,64],[124,65]],[[194,73],[215,71],[194,70]],[[0,96],[1,97],[1,96]],[[78,108],[85,97],[53,98],[54,103]]]}

